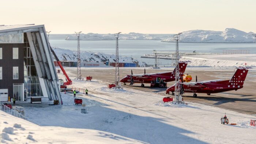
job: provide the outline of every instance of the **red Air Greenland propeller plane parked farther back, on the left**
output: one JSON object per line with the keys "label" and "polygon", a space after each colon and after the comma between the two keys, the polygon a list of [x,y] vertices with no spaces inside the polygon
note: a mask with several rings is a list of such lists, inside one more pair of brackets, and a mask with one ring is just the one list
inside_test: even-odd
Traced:
{"label": "red Air Greenland propeller plane parked farther back, on the left", "polygon": [[[189,61],[179,62],[181,77],[183,77],[183,74],[187,67],[187,62]],[[130,83],[130,85],[133,85],[133,83],[141,83],[141,86],[144,87],[144,83],[151,83],[152,80],[158,81],[159,78],[161,80],[164,80],[165,82],[174,81],[175,69],[173,72],[160,72],[160,73],[148,73],[148,74],[146,74],[146,69],[144,69],[144,74],[126,75],[123,79],[120,80],[120,82],[124,83],[124,85],[126,85],[126,83]]]}

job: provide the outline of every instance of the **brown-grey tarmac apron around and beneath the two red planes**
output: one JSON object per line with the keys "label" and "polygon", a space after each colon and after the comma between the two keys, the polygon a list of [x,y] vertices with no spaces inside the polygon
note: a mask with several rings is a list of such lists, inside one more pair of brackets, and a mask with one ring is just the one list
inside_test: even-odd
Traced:
{"label": "brown-grey tarmac apron around and beneath the two red planes", "polygon": [[[125,75],[131,74],[131,69],[133,74],[144,73],[144,68],[120,68],[120,79]],[[146,68],[146,73],[173,71],[172,68],[163,69],[149,69]],[[195,82],[195,77],[197,75],[198,81],[204,80],[214,80],[214,79],[225,79],[229,80],[234,75],[234,68],[193,68],[187,67],[185,73],[192,76],[192,81]],[[69,69],[69,72],[76,75],[76,69]],[[115,68],[81,68],[81,73],[83,77],[92,76],[93,79],[102,80],[106,83],[114,83],[115,79]],[[174,82],[168,82],[167,86],[172,86]],[[140,83],[135,83],[126,86],[122,84],[125,88],[133,88],[141,91],[148,91],[152,94],[158,93],[163,95],[163,98],[167,96],[165,94],[166,88],[150,88],[150,84],[145,84],[145,87],[141,87]],[[246,113],[251,115],[256,115],[256,71],[248,72],[244,87],[237,91],[227,91],[217,94],[197,94],[197,97],[193,97],[193,93],[185,93],[183,96],[185,102],[196,102],[203,103],[206,105],[211,105],[215,107],[221,107],[227,110],[233,110],[240,113]],[[172,96],[172,95],[169,95]],[[225,111],[223,111],[225,113]]]}

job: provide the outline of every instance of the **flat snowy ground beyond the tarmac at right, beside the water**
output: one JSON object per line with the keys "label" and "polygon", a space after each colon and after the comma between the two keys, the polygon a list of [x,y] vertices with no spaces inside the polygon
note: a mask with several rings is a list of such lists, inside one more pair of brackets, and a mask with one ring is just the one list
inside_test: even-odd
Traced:
{"label": "flat snowy ground beyond the tarmac at right, beside the water", "polygon": [[181,61],[191,61],[190,66],[208,67],[240,67],[256,66],[256,54],[218,54],[182,56]]}

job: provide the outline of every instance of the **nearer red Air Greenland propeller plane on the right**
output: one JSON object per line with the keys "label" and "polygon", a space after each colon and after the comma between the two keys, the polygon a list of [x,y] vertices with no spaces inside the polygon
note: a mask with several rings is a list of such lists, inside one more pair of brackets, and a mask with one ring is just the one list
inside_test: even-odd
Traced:
{"label": "nearer red Air Greenland propeller plane on the right", "polygon": [[[184,92],[191,92],[193,93],[193,96],[196,97],[196,93],[211,95],[225,91],[237,91],[243,87],[245,77],[248,73],[248,68],[251,67],[238,67],[234,76],[230,80],[217,79],[202,82],[181,83],[181,94]],[[172,95],[174,95],[174,87],[175,85],[169,87],[166,90],[166,94],[170,94],[170,92],[172,92]]]}

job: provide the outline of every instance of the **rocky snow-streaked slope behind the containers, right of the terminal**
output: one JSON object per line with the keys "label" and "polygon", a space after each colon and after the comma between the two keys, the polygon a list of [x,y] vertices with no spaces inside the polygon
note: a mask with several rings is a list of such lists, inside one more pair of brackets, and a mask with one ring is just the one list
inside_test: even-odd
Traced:
{"label": "rocky snow-streaked slope behind the containers, right of the terminal", "polygon": [[[60,61],[77,61],[77,52],[68,50],[53,48],[57,57]],[[104,54],[104,53],[94,53],[94,52],[81,52],[80,53],[81,61],[94,61],[94,62],[115,62],[116,56],[114,54]],[[119,57],[119,62],[127,63],[138,63],[140,66],[143,66],[144,62],[139,62],[138,60],[132,57]]]}

